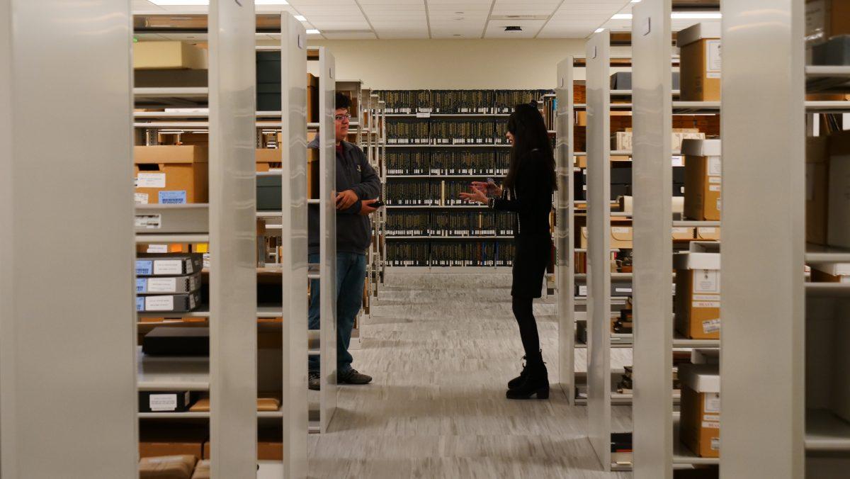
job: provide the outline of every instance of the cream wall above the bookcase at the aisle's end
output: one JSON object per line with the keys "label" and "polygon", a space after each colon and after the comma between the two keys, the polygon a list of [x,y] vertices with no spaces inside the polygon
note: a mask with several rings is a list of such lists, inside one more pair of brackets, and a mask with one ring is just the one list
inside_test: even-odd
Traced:
{"label": "cream wall above the bookcase at the aisle's end", "polygon": [[[375,89],[555,88],[557,65],[584,56],[584,39],[317,40],[331,50],[337,78]],[[628,54],[629,48],[612,48]],[[575,78],[584,79],[584,69]]]}

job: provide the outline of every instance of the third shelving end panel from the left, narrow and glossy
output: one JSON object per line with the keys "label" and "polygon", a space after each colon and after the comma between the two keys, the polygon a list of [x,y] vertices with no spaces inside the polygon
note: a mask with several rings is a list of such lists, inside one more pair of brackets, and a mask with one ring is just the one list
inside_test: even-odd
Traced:
{"label": "third shelving end panel from the left, narrow and glossy", "polygon": [[307,476],[307,31],[291,14],[280,15],[281,161],[283,208],[280,263],[283,269],[282,328],[284,470],[293,479]]}

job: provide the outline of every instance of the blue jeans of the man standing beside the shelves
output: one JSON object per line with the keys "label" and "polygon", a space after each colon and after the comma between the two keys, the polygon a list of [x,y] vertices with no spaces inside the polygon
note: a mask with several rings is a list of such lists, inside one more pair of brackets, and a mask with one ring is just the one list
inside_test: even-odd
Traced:
{"label": "blue jeans of the man standing beside the shelves", "polygon": [[[309,255],[310,264],[319,262],[318,254]],[[354,319],[363,306],[363,282],[366,277],[366,256],[357,253],[337,253],[337,374],[346,374],[354,358],[348,352]],[[319,281],[310,280],[309,328],[319,329]],[[309,371],[319,372],[319,356],[309,356]]]}

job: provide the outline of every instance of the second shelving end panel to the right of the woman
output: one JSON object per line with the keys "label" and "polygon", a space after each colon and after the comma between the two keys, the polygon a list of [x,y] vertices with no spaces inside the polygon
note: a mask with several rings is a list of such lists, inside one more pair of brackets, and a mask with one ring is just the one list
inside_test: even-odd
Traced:
{"label": "second shelving end panel to the right of the woman", "polygon": [[610,31],[587,41],[587,419],[593,449],[611,469]]}

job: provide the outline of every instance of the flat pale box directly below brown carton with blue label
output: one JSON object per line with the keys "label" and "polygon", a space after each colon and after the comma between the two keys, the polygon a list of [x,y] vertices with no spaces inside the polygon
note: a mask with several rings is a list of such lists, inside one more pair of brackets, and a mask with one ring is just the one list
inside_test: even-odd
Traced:
{"label": "flat pale box directly below brown carton with blue label", "polygon": [[133,227],[137,233],[207,233],[209,205],[137,204]]}

